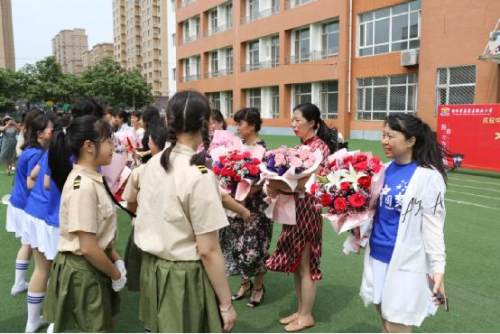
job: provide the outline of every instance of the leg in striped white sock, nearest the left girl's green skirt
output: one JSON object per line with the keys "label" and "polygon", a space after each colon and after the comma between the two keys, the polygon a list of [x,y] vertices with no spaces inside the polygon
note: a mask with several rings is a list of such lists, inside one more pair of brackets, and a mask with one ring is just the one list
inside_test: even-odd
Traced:
{"label": "leg in striped white sock, nearest the left girl's green skirt", "polygon": [[35,258],[35,270],[31,275],[28,287],[27,333],[36,332],[44,324],[40,316],[50,271],[50,262],[47,261],[45,255],[34,249],[33,257]]}

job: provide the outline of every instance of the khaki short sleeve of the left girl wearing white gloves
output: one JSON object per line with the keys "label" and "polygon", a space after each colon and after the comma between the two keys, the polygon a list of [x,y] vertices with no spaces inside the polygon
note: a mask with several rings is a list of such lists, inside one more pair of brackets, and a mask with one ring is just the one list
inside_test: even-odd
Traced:
{"label": "khaki short sleeve of the left girl wearing white gloves", "polygon": [[97,193],[91,181],[81,179],[77,188],[77,179],[71,189],[68,201],[68,232],[97,233]]}

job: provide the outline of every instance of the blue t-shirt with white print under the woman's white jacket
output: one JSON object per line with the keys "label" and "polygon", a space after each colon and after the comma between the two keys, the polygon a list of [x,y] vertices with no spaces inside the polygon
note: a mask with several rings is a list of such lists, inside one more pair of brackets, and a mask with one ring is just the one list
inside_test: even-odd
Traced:
{"label": "blue t-shirt with white print under the woman's white jacket", "polygon": [[384,263],[391,261],[403,197],[416,169],[416,162],[406,165],[392,162],[385,170],[384,188],[380,193],[370,237],[370,255],[376,260]]}

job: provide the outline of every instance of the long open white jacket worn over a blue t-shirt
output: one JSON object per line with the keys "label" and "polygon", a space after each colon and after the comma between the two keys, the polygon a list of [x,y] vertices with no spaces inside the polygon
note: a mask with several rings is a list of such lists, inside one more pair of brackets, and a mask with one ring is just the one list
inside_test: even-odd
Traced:
{"label": "long open white jacket worn over a blue t-shirt", "polygon": [[[441,174],[417,167],[401,206],[394,253],[382,293],[382,316],[390,322],[420,326],[437,307],[427,274],[444,273],[444,196]],[[365,250],[360,295],[365,306],[373,303],[373,272],[370,245]]]}

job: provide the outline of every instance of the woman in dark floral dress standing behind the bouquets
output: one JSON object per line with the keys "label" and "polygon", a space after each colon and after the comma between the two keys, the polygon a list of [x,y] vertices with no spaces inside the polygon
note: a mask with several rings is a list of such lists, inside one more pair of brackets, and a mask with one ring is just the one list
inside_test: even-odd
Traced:
{"label": "woman in dark floral dress standing behind the bouquets", "polygon": [[[247,147],[260,145],[266,148],[265,142],[259,138],[262,119],[257,109],[239,110],[234,115],[234,121],[238,134]],[[226,259],[226,271],[232,275],[240,275],[242,279],[240,289],[233,295],[233,299],[242,299],[250,292],[247,306],[254,308],[260,305],[264,297],[265,261],[269,257],[273,229],[271,220],[264,214],[266,204],[261,187],[252,186],[243,204],[251,212],[251,217],[247,220],[228,217],[229,226],[221,231],[220,240]],[[255,277],[253,284],[252,276]]]}

